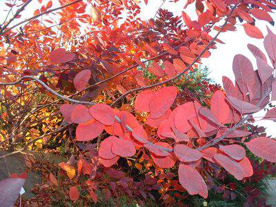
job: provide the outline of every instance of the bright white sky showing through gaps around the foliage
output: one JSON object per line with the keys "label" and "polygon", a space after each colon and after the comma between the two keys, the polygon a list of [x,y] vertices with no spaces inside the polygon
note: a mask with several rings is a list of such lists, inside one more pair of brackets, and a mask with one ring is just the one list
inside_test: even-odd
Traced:
{"label": "bright white sky showing through gaps around the foliage", "polygon": [[[162,0],[148,0],[148,5],[144,3],[144,0],[141,1],[141,19],[150,19],[155,16],[155,13],[157,12],[159,6],[161,6]],[[170,12],[173,12],[175,15],[181,15],[181,11],[184,10],[184,4],[185,1],[179,0],[177,3],[170,2],[171,0],[166,0],[166,3],[161,8],[165,8],[169,10]],[[52,8],[55,8],[59,5],[57,0],[52,0],[53,6]],[[24,12],[22,12],[21,18],[28,18],[32,17],[32,13],[37,8],[41,7],[37,0],[34,0]],[[194,11],[194,6],[190,5],[188,8],[185,9],[185,12],[187,12],[192,20],[197,20],[197,15]],[[3,6],[3,0],[0,0],[0,22],[2,23],[6,12],[3,12],[3,8],[6,8],[6,6]],[[271,14],[273,19],[276,19],[275,14]],[[247,44],[251,43],[258,48],[260,48],[263,52],[264,50],[264,40],[263,39],[253,39],[246,35],[244,32],[244,28],[242,26],[242,23],[237,23],[237,31],[235,32],[225,32],[219,34],[219,39],[221,41],[224,41],[226,44],[220,44],[217,43],[217,49],[211,50],[211,56],[208,59],[203,59],[202,63],[205,66],[208,66],[210,69],[210,75],[209,77],[212,78],[215,82],[221,83],[221,77],[227,76],[230,79],[234,80],[234,75],[232,71],[232,63],[233,63],[233,57],[237,54],[242,54],[248,57],[252,63],[253,66],[256,68],[255,58],[253,55],[251,55],[250,51],[247,48]],[[275,34],[276,34],[276,28],[275,26],[271,26],[266,21],[257,21],[256,26],[263,32],[264,35],[267,34],[266,26],[270,28]],[[215,33],[214,33],[215,34]],[[258,117],[264,116],[264,112],[257,113]],[[257,124],[259,126],[265,126],[267,128],[268,135],[273,135],[273,137],[276,137],[276,130],[275,126],[276,123],[273,121],[257,121]]]}

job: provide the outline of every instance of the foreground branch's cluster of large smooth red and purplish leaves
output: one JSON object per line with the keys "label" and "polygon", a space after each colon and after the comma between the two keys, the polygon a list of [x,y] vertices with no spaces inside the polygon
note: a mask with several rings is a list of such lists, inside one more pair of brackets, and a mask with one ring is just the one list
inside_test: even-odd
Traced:
{"label": "foreground branch's cluster of large smooth red and purplish leaves", "polygon": [[[276,61],[273,53],[275,43],[270,40],[274,38],[275,34],[268,31],[264,40],[273,64]],[[66,120],[79,124],[77,141],[96,139],[103,130],[110,135],[99,145],[99,163],[103,166],[110,167],[117,163],[119,157],[132,157],[139,148],[145,148],[160,168],[171,168],[179,161],[181,186],[190,195],[199,194],[206,198],[208,187],[200,173],[203,159],[221,166],[239,180],[253,175],[253,167],[246,157],[244,146],[256,156],[276,162],[275,140],[267,137],[236,140],[251,134],[237,123],[241,123],[240,120],[246,115],[264,108],[270,101],[270,91],[273,97],[276,92],[272,88],[275,85],[273,68],[270,68],[259,49],[249,48],[256,57],[258,70],[253,70],[246,57],[237,55],[233,61],[236,84],[234,86],[230,79],[224,77],[227,95],[221,90],[215,91],[210,99],[210,109],[197,101],[190,101],[171,110],[177,98],[175,86],[159,88],[155,92],[140,92],[135,101],[135,110],[148,112],[146,124],[157,128],[157,137],[154,139],[148,137],[146,130],[130,112],[112,109],[103,103],[90,108],[63,104],[61,112]],[[275,119],[275,108],[269,110],[264,119],[267,117]],[[244,145],[228,144],[236,141]]]}

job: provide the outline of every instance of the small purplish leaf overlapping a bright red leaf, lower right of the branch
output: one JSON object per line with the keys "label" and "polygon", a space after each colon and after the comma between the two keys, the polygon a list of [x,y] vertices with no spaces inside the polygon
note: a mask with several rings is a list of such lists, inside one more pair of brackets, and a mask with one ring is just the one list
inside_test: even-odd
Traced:
{"label": "small purplish leaf overlapping a bright red leaf, lower right of the branch", "polygon": [[236,160],[244,159],[246,156],[246,150],[244,150],[244,148],[238,144],[230,144],[226,146],[220,145],[219,150]]}

